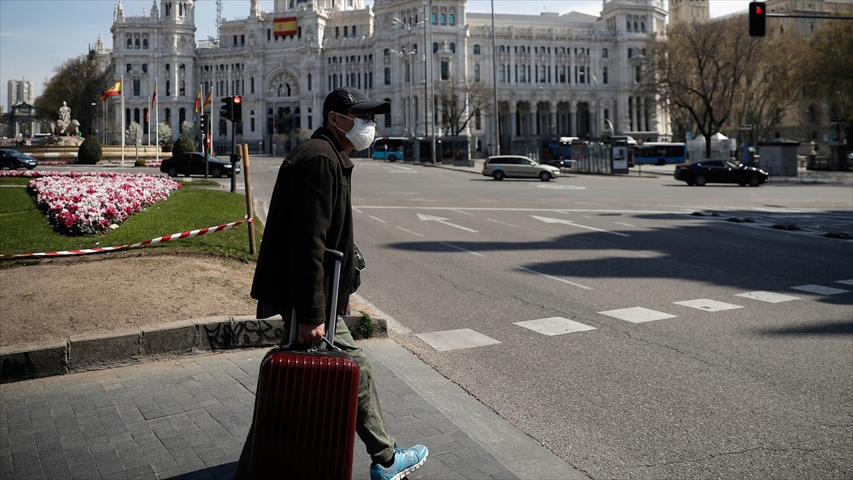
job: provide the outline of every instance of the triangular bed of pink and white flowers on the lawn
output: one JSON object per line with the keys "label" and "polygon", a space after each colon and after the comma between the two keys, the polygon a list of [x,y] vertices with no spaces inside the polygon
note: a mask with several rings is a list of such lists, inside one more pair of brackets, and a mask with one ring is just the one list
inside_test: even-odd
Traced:
{"label": "triangular bed of pink and white flowers on the lawn", "polygon": [[27,188],[50,224],[65,235],[107,231],[181,188],[167,177],[146,173],[40,172],[33,176]]}

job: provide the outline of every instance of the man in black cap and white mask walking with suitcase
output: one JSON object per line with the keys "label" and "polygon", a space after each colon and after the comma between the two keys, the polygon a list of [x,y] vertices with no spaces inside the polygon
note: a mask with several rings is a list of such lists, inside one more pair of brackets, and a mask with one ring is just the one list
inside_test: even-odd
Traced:
{"label": "man in black cap and white mask walking with suitcase", "polygon": [[[321,342],[327,307],[332,303],[323,256],[326,249],[344,252],[334,345],[350,354],[361,370],[356,432],[372,460],[371,480],[400,480],[423,465],[428,454],[423,445],[397,447],[388,434],[370,364],[342,319],[356,276],[351,204],[354,165],[348,154],[373,143],[375,115],[390,111],[388,102],[371,101],[353,88],[328,94],[322,126],[287,155],[279,170],[252,284],[258,319],[281,314],[289,323],[295,311],[299,342]],[[290,331],[289,325],[284,331]],[[248,478],[252,436],[253,427],[235,479]],[[287,465],[281,468],[287,471]]]}

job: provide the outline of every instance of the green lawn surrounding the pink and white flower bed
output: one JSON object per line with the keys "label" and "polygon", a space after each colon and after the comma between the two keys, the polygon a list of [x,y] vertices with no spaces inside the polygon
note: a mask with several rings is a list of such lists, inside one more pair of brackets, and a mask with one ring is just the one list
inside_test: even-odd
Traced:
{"label": "green lawn surrounding the pink and white flower bed", "polygon": [[[0,254],[26,254],[68,249],[113,247],[142,242],[183,231],[243,220],[246,216],[246,196],[208,188],[192,188],[185,184],[180,190],[147,210],[131,216],[119,228],[100,236],[67,237],[56,233],[47,216],[36,208],[26,190],[26,179],[0,179]],[[195,182],[194,182],[195,183]],[[199,182],[201,184],[202,182]],[[9,186],[20,185],[20,186]],[[255,259],[249,253],[248,225],[202,237],[171,240],[135,250],[157,252],[198,252],[239,259]],[[255,219],[256,252],[263,225]],[[107,254],[108,255],[108,254]],[[0,266],[15,260],[0,260]]]}

